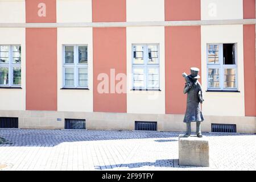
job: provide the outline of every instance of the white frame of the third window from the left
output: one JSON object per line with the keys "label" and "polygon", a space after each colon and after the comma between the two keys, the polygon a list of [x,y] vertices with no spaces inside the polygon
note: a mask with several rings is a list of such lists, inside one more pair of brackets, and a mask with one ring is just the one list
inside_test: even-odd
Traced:
{"label": "white frame of the third window from the left", "polygon": [[[143,46],[143,64],[135,64],[134,63],[134,46]],[[148,52],[147,48],[148,46],[157,46],[158,47],[158,63],[155,64],[148,64]],[[152,43],[152,44],[132,44],[131,45],[131,54],[132,54],[132,89],[133,90],[160,90],[160,52],[159,52],[159,44]],[[143,68],[143,74],[144,74],[144,87],[134,87],[134,68]],[[148,88],[147,82],[148,82],[148,68],[158,68],[159,72],[159,87],[158,88]]]}

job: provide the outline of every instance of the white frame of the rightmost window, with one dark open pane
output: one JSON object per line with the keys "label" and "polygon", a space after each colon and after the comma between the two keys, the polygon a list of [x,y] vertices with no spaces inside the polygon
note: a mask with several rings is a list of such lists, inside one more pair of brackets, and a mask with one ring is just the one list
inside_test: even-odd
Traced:
{"label": "white frame of the rightmost window, with one dark open pane", "polygon": [[[237,43],[230,43],[234,44],[235,46],[235,64],[223,64],[223,44],[229,43],[209,43],[207,44],[207,90],[237,90],[238,89],[238,72],[237,72]],[[210,45],[218,45],[218,64],[209,63],[208,60],[208,46]],[[219,88],[212,88],[209,87],[209,80],[208,80],[208,69],[219,69]],[[236,71],[236,88],[224,88],[224,69],[226,68],[234,68]]]}

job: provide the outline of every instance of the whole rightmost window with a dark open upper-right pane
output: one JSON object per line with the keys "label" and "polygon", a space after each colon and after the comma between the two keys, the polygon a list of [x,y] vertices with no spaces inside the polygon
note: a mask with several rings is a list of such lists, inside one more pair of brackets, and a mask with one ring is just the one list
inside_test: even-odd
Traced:
{"label": "whole rightmost window with a dark open upper-right pane", "polygon": [[209,90],[237,90],[236,44],[207,45]]}

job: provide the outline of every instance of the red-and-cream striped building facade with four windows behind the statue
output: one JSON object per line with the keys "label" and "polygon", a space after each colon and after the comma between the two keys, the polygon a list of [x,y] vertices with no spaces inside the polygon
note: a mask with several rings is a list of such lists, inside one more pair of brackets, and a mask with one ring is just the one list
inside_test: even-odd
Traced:
{"label": "red-and-cream striped building facade with four windows behind the statue", "polygon": [[202,131],[256,133],[255,0],[0,0],[0,60],[0,117],[20,129],[185,131],[197,67]]}

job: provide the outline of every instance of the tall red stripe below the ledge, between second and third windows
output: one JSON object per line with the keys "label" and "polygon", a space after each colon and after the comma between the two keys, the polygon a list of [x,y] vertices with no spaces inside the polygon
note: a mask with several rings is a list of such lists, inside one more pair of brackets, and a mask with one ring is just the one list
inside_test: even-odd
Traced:
{"label": "tall red stripe below the ledge, between second and third windows", "polygon": [[[126,75],[126,28],[93,28],[93,110],[126,113],[126,93],[110,93],[110,69]],[[109,93],[99,93],[100,73],[109,77]],[[113,81],[117,84],[118,81]],[[126,90],[126,80],[124,80]]]}

